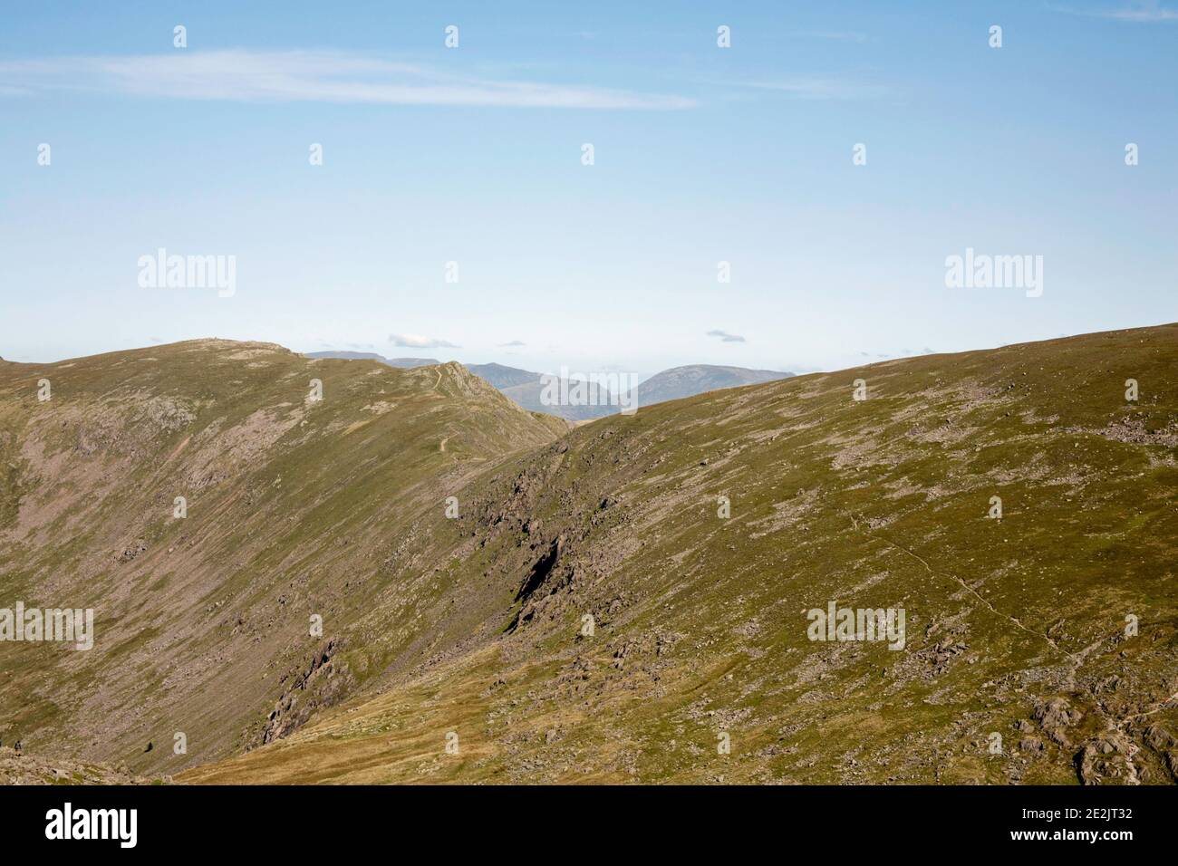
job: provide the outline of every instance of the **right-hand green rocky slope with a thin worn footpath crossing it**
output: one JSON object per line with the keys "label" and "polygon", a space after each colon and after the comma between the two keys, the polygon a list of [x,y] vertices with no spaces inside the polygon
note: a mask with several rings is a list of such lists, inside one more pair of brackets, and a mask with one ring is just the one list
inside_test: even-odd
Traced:
{"label": "right-hand green rocky slope with a thin worn footpath crossing it", "polygon": [[[180,780],[1172,782],[1176,373],[1166,325],[580,428],[423,513],[464,634]],[[810,640],[832,602],[904,647]]]}

